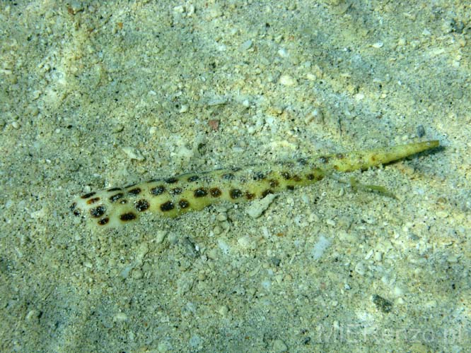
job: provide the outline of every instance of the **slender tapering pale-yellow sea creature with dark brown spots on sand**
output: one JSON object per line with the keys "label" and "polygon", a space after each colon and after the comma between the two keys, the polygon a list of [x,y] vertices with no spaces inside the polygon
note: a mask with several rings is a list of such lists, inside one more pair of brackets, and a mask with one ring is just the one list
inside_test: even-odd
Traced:
{"label": "slender tapering pale-yellow sea creature with dark brown spots on sand", "polygon": [[99,227],[118,227],[143,213],[176,217],[219,201],[241,202],[315,183],[333,172],[351,172],[393,162],[438,147],[438,140],[359,152],[318,155],[293,162],[182,174],[87,193],[71,211]]}

